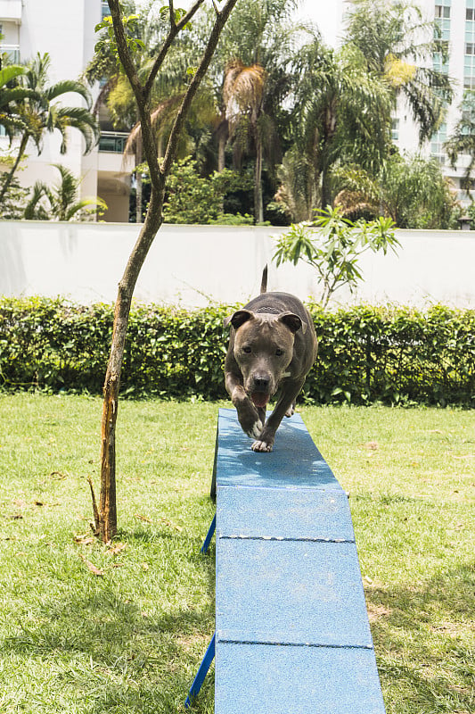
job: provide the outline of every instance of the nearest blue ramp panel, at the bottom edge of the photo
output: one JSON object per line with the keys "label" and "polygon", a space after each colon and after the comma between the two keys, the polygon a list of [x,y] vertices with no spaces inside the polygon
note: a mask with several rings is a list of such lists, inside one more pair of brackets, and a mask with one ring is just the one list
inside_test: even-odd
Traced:
{"label": "nearest blue ramp panel, at the bottom edge of the photo", "polygon": [[371,650],[217,640],[217,714],[384,714]]}

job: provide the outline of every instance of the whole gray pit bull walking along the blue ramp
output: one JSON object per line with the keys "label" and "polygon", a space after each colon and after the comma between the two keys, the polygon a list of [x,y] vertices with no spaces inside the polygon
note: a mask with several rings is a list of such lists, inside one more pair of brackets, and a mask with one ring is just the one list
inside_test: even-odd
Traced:
{"label": "whole gray pit bull walking along the blue ramp", "polygon": [[[231,325],[225,359],[225,387],[243,431],[255,439],[255,452],[270,452],[283,416],[294,413],[295,400],[316,358],[317,341],[309,312],[294,295],[261,294],[225,318]],[[274,411],[266,405],[279,390]]]}

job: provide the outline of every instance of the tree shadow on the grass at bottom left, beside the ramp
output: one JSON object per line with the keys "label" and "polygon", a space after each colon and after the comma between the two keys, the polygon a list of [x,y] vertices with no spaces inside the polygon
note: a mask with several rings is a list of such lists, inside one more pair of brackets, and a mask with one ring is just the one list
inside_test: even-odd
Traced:
{"label": "tree shadow on the grass at bottom left, beside the ramp", "polygon": [[[140,527],[121,534],[137,558],[143,552],[141,544],[163,541],[164,537],[169,543],[173,535],[149,533]],[[180,556],[187,556],[190,586],[197,569],[204,576],[201,588],[204,585],[205,594],[198,606],[186,597],[182,602],[179,596],[168,603],[157,585],[160,580],[152,578],[148,589],[138,593],[142,583],[133,570],[129,581],[124,570],[110,569],[107,577],[83,576],[81,572],[69,583],[68,572],[63,570],[61,583],[66,581],[69,590],[45,592],[17,627],[17,634],[6,638],[0,656],[35,661],[41,667],[51,665],[50,701],[59,697],[67,701],[70,696],[72,704],[79,699],[83,702],[80,711],[87,714],[175,714],[184,710],[185,696],[214,629],[215,577],[212,553],[201,556],[197,539],[178,535],[176,539],[176,550],[181,548]],[[135,560],[128,561],[131,563]],[[169,582],[166,585],[169,587]],[[185,586],[182,577],[177,589],[183,593]],[[69,691],[64,697],[63,685]],[[193,712],[212,712],[212,702],[210,673]]]}

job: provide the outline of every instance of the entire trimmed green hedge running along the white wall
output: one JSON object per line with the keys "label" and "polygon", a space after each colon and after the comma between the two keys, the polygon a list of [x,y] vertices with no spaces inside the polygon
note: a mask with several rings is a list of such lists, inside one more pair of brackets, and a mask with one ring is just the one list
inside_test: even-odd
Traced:
{"label": "entire trimmed green hedge running along the white wall", "polygon": [[[225,315],[156,304],[130,314],[123,395],[207,400],[225,396]],[[433,306],[309,309],[319,355],[307,403],[475,405],[475,311]],[[62,299],[0,299],[0,386],[100,394],[113,307]]]}

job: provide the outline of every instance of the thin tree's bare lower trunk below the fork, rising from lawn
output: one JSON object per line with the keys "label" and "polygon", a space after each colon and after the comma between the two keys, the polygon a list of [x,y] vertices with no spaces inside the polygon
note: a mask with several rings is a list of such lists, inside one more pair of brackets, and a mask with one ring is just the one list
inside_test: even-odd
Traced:
{"label": "thin tree's bare lower trunk below the fork, rising from lawn", "polygon": [[101,494],[95,517],[95,530],[103,543],[117,535],[116,507],[116,422],[119,407],[120,372],[126,346],[127,322],[134,295],[135,283],[143,262],[162,222],[163,190],[160,195],[152,189],[149,210],[143,228],[130,254],[127,267],[119,282],[114,314],[111,355],[105,377],[101,424]]}

